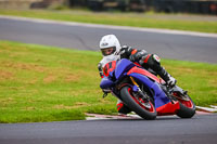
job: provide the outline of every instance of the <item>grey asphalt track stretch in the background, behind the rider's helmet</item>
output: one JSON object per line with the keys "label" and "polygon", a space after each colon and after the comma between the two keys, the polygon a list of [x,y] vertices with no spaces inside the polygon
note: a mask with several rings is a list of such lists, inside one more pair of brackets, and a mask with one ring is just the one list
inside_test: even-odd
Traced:
{"label": "grey asphalt track stretch in the background, behind the rider's helmet", "polygon": [[97,51],[101,37],[107,34],[116,35],[122,44],[144,49],[159,57],[217,63],[217,35],[210,37],[0,16],[1,40]]}

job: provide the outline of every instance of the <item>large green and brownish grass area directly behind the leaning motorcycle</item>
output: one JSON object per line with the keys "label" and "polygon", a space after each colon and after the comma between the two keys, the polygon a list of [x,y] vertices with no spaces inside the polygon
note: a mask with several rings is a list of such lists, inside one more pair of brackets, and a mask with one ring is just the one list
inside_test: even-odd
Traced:
{"label": "large green and brownish grass area directly behind the leaning motorcycle", "polygon": [[[0,41],[0,122],[85,119],[114,114],[116,99],[102,99],[99,52]],[[196,105],[217,104],[217,65],[163,60]]]}

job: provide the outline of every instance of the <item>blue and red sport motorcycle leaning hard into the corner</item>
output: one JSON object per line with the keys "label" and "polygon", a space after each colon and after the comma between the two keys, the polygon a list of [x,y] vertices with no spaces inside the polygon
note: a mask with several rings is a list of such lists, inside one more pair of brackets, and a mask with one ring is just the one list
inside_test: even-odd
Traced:
{"label": "blue and red sport motorcycle leaning hard into the corner", "polygon": [[[191,118],[195,114],[187,91],[178,86],[169,88],[163,79],[127,58],[108,62],[103,73],[100,88],[108,90],[143,119],[165,115]],[[104,91],[103,97],[106,95]]]}

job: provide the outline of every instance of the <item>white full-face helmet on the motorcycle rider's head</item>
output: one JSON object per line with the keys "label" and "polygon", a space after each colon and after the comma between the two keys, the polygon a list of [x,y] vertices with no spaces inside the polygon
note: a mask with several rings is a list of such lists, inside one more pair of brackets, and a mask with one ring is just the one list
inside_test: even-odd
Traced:
{"label": "white full-face helmet on the motorcycle rider's head", "polygon": [[117,57],[122,49],[119,40],[115,35],[105,35],[100,41],[100,50],[103,56]]}

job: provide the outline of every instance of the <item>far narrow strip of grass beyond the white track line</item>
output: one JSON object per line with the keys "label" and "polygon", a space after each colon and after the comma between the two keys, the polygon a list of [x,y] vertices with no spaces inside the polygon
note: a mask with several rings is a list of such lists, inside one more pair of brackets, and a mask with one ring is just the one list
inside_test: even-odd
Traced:
{"label": "far narrow strip of grass beyond the white track line", "polygon": [[[212,16],[156,13],[94,13],[89,11],[54,10],[0,10],[0,15],[15,15],[44,19],[81,22],[92,24],[166,28],[217,32],[217,21]],[[210,17],[214,21],[207,21]]]}

